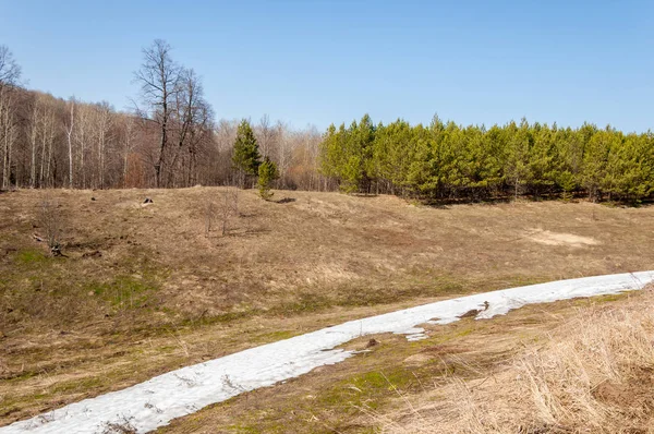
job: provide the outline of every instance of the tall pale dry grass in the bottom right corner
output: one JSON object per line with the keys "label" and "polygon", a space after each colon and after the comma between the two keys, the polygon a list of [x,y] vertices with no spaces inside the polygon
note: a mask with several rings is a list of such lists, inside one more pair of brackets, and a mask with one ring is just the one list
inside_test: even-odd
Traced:
{"label": "tall pale dry grass in the bottom right corner", "polygon": [[477,378],[371,414],[392,433],[652,433],[653,301],[582,310]]}

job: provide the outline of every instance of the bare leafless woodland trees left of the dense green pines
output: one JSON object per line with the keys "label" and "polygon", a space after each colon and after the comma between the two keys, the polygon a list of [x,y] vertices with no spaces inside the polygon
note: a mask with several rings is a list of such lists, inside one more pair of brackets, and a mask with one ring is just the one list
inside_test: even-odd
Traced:
{"label": "bare leafless woodland trees left of the dense green pines", "polygon": [[[202,82],[155,41],[135,72],[131,112],[108,103],[56,98],[22,85],[21,68],[0,46],[0,189],[181,188],[239,182],[232,156],[241,120],[215,121]],[[279,168],[276,186],[324,190],[322,134],[265,116],[252,125],[262,158]]]}

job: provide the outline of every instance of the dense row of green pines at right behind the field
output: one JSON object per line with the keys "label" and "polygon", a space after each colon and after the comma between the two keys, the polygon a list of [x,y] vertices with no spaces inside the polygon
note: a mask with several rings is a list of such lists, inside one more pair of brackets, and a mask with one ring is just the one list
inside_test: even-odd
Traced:
{"label": "dense row of green pines at right behind the field", "polygon": [[435,117],[428,126],[398,120],[329,126],[320,171],[342,191],[423,200],[588,195],[642,201],[654,192],[654,134],[610,126],[578,129],[509,122],[461,126]]}

